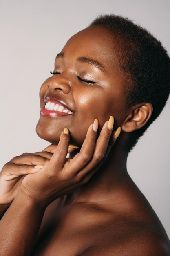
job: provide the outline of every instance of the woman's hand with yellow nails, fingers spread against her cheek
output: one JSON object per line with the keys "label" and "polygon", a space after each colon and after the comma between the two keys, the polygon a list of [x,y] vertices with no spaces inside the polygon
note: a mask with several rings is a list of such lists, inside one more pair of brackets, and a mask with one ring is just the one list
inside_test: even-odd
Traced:
{"label": "woman's hand with yellow nails, fingers spread against her cheek", "polygon": [[[70,162],[66,162],[69,132],[65,128],[50,161],[37,173],[24,178],[21,193],[46,207],[53,200],[75,191],[88,182],[101,166],[120,132],[119,128],[117,135],[115,132],[112,133],[112,120],[111,127],[110,121],[107,121],[97,138],[98,121],[95,119],[94,124],[88,129],[80,152]],[[112,134],[115,134],[115,137],[112,136],[113,139],[110,138]]]}

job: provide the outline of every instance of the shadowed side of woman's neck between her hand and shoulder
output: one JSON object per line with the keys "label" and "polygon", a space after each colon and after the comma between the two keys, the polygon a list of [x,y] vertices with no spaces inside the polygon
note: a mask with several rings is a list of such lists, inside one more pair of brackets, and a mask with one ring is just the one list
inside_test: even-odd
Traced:
{"label": "shadowed side of woman's neck between her hand and shoulder", "polygon": [[115,143],[106,161],[91,179],[81,186],[76,201],[96,202],[105,200],[108,194],[114,193],[129,177],[126,169],[127,157],[128,153],[122,150],[121,143]]}

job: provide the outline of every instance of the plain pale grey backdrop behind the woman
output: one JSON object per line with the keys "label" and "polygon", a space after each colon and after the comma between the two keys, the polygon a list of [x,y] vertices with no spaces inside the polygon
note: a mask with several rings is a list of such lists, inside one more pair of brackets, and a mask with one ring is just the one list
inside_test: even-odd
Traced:
{"label": "plain pale grey backdrop behind the woman", "polygon": [[[48,146],[35,133],[39,89],[68,38],[99,13],[134,20],[170,52],[170,0],[1,0],[0,168]],[[170,237],[170,100],[128,158],[128,171]]]}

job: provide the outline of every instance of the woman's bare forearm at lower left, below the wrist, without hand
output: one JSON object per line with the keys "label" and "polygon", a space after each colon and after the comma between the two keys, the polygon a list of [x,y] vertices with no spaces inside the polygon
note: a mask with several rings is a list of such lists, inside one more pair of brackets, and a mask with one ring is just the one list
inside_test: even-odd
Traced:
{"label": "woman's bare forearm at lower left, below the wrist, without hand", "polygon": [[44,211],[24,193],[18,193],[0,221],[0,256],[31,254]]}

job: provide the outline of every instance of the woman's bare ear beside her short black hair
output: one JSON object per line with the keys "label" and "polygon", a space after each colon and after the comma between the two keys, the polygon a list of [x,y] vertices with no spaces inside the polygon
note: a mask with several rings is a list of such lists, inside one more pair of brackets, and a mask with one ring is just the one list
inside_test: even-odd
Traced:
{"label": "woman's bare ear beside her short black hair", "polygon": [[132,106],[128,117],[126,117],[121,126],[121,129],[124,132],[132,132],[140,129],[147,123],[148,119],[150,119],[152,112],[153,107],[151,103],[141,103]]}

